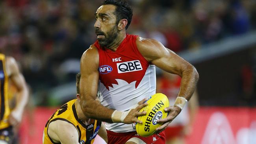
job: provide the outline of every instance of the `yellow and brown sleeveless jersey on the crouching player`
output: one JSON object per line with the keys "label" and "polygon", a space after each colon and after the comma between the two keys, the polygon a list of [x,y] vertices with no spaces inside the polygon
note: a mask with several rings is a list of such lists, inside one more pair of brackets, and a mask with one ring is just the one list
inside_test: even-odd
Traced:
{"label": "yellow and brown sleeveless jersey on the crouching player", "polygon": [[74,127],[76,127],[78,134],[79,134],[79,142],[80,144],[93,144],[94,138],[96,137],[101,122],[95,120],[94,124],[85,125],[81,120],[78,119],[78,115],[76,113],[76,106],[75,106],[76,99],[67,102],[66,104],[62,105],[48,120],[45,125],[44,129],[44,136],[43,136],[43,144],[60,144],[55,143],[49,136],[48,136],[48,126],[51,122],[56,120],[63,120],[68,122]]}

